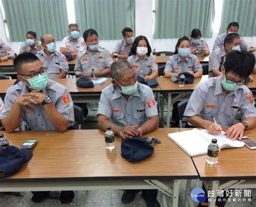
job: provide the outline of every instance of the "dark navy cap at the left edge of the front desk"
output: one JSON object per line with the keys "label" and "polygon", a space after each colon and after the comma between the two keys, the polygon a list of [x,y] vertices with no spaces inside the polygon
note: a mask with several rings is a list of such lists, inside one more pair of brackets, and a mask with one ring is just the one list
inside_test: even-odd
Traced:
{"label": "dark navy cap at the left edge of the front desk", "polygon": [[17,173],[31,158],[30,149],[19,149],[15,146],[0,149],[0,177]]}

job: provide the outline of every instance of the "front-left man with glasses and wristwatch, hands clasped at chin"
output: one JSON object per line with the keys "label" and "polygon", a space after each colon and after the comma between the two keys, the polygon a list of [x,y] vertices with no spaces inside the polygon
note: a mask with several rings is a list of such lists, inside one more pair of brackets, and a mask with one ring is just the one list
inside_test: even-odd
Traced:
{"label": "front-left man with glasses and wristwatch, hands clasped at chin", "polygon": [[[74,122],[73,102],[69,91],[55,81],[48,80],[42,62],[30,52],[19,54],[14,60],[20,80],[6,92],[0,114],[3,126],[13,132],[24,120],[32,131],[68,129]],[[42,202],[49,191],[33,192],[32,201]],[[71,202],[73,191],[62,191],[63,202]]]}

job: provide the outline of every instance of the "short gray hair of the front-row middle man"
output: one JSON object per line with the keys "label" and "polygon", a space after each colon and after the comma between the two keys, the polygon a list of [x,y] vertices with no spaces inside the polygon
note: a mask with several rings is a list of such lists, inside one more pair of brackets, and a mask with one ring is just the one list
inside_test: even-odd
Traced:
{"label": "short gray hair of the front-row middle man", "polygon": [[111,77],[118,80],[121,74],[129,69],[133,69],[130,62],[127,60],[117,60],[110,67]]}

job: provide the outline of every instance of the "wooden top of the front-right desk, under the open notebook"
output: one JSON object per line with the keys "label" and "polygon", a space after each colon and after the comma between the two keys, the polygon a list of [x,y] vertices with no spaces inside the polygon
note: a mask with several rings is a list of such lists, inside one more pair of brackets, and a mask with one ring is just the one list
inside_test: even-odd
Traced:
{"label": "wooden top of the front-right desk, under the open notebook", "polygon": [[[191,129],[180,129],[191,130]],[[224,130],[226,131],[226,130]],[[256,140],[256,129],[245,131],[245,134]],[[256,150],[244,146],[241,148],[223,148],[219,152],[217,165],[205,162],[206,155],[194,156],[194,165],[200,180],[239,180],[256,179]]]}

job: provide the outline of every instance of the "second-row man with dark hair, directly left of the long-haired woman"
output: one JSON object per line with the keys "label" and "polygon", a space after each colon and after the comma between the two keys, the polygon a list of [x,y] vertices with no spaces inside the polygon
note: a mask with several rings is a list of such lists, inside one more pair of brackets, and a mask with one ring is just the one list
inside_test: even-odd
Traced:
{"label": "second-row man with dark hair, directly left of the long-haired woman", "polygon": [[75,70],[78,69],[82,76],[91,76],[91,70],[95,70],[96,77],[109,77],[110,66],[113,62],[110,52],[99,46],[98,34],[90,28],[84,31],[86,47],[79,51]]}

